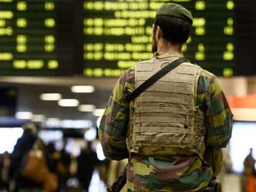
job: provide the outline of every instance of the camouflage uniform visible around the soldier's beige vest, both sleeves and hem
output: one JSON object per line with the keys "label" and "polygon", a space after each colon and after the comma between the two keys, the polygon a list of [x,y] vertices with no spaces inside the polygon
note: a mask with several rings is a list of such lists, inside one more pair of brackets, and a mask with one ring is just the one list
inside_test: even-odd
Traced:
{"label": "camouflage uniform visible around the soldier's beige vest, both sleeves and hem", "polygon": [[232,131],[232,113],[217,78],[203,70],[198,79],[197,104],[207,114],[206,151],[197,154],[177,149],[176,155],[145,157],[129,154],[126,145],[129,122],[127,90],[134,91],[134,68],[118,80],[106,106],[98,134],[105,155],[110,159],[129,158],[127,188],[129,191],[200,191],[222,164],[220,148],[226,147]]}

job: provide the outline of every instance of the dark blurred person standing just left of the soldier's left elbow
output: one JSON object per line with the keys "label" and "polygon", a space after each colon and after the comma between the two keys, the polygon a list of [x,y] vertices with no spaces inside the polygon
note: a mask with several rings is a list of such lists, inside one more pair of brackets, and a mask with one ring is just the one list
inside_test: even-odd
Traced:
{"label": "dark blurred person standing just left of the soldier's left elbow", "polygon": [[77,157],[77,176],[82,190],[88,191],[97,162],[98,158],[92,149],[92,142],[88,141],[87,148],[83,148]]}

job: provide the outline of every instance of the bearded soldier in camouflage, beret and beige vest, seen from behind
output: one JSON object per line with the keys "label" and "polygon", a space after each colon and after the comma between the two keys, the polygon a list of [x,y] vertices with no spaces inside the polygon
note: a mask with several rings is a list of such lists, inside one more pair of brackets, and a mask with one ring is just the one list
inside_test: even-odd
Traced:
{"label": "bearded soldier in camouflage, beret and beige vest, seen from behind", "polygon": [[182,57],[192,23],[184,7],[161,6],[153,58],[124,72],[109,98],[98,134],[109,159],[129,158],[129,191],[202,191],[220,172],[233,115],[215,75],[184,62],[127,101],[127,94]]}

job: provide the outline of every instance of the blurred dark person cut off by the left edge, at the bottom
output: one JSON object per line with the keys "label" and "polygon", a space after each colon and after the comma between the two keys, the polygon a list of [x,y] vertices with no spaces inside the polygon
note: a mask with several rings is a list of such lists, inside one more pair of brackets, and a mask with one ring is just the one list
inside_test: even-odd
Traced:
{"label": "blurred dark person cut off by the left edge, at the bottom", "polygon": [[0,190],[7,190],[9,188],[10,166],[11,156],[6,151],[0,156]]}

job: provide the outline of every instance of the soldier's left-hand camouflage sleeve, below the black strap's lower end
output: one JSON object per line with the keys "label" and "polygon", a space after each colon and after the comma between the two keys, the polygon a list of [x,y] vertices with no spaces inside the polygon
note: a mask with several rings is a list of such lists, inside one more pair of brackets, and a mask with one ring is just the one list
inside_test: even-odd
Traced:
{"label": "soldier's left-hand camouflage sleeve, below the black strap's lower end", "polygon": [[134,79],[131,70],[127,70],[117,81],[98,129],[103,151],[109,159],[120,160],[129,156],[126,147],[129,103],[125,97],[132,77]]}

